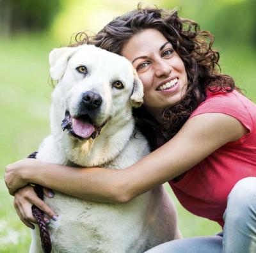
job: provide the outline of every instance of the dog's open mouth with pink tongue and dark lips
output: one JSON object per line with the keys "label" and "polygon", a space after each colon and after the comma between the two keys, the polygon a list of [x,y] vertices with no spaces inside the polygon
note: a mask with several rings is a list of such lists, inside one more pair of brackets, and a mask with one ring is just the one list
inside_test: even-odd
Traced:
{"label": "dog's open mouth with pink tongue and dark lips", "polygon": [[61,127],[63,131],[67,130],[68,134],[77,139],[95,139],[100,134],[100,130],[104,125],[105,123],[101,126],[95,125],[88,114],[73,118],[70,112],[66,111]]}

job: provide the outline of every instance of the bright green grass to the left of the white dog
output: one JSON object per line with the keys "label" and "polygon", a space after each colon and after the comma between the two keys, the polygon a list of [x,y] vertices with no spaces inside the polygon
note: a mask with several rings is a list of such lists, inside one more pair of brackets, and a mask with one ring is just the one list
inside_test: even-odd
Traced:
{"label": "bright green grass to the left of the white dog", "polygon": [[[52,47],[42,36],[1,41],[1,178],[6,164],[35,151],[50,132],[47,58]],[[17,217],[3,180],[0,189],[0,252],[28,252],[30,231]]]}

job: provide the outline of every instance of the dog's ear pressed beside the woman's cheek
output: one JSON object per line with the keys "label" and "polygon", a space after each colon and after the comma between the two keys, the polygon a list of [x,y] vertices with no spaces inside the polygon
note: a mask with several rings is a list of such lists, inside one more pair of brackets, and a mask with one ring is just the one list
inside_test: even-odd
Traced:
{"label": "dog's ear pressed beside the woman's cheek", "polygon": [[138,77],[136,70],[133,70],[134,81],[133,90],[131,95],[131,105],[132,107],[138,108],[143,104],[143,84]]}

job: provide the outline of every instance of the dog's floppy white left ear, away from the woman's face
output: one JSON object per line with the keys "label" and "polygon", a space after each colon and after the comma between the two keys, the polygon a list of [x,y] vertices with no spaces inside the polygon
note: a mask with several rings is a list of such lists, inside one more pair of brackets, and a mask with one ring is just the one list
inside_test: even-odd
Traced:
{"label": "dog's floppy white left ear, away from the woman's face", "polygon": [[53,49],[49,54],[50,73],[54,80],[60,80],[66,70],[68,60],[76,52],[77,47],[61,47]]}

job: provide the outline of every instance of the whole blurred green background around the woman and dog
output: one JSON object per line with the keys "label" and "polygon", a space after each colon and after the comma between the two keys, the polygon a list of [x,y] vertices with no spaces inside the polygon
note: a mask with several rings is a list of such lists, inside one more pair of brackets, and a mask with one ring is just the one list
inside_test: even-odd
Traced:
{"label": "whole blurred green background around the woman and dog", "polygon": [[[143,1],[144,6],[180,8],[180,16],[199,22],[215,36],[221,70],[234,77],[246,96],[256,101],[256,1]],[[50,133],[51,80],[48,54],[67,45],[72,34],[97,33],[117,15],[136,8],[134,0],[0,0],[0,173],[15,160],[38,148]],[[74,37],[74,35],[73,35]],[[166,186],[168,190],[170,188]],[[0,181],[0,252],[28,252],[29,229],[20,222]],[[172,192],[170,194],[173,197]],[[174,197],[173,197],[174,198]],[[177,203],[177,201],[175,200]],[[209,220],[195,217],[177,203],[184,236],[221,231]]]}

